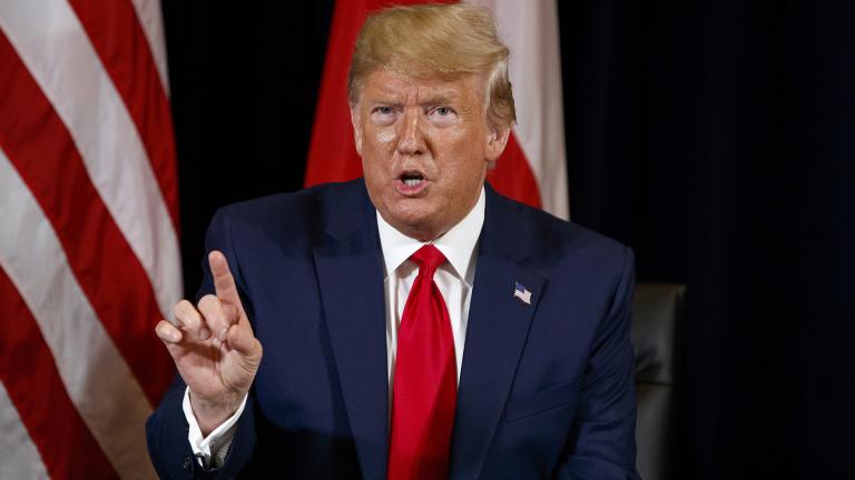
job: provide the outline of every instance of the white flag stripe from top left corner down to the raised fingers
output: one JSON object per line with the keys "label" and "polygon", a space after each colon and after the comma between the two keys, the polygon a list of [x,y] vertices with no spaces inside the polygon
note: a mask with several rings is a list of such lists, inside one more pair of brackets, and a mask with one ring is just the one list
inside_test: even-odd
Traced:
{"label": "white flag stripe from top left corner down to the raised fingers", "polygon": [[168,318],[183,289],[177,234],[139,133],[80,21],[65,0],[0,1],[0,28],[68,128]]}

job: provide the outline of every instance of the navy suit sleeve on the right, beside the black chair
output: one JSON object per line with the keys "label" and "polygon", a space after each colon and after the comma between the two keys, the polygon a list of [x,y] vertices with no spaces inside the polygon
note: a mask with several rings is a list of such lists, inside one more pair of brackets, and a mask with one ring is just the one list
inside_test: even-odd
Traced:
{"label": "navy suit sleeve on the right, beside the black chair", "polygon": [[635,354],[629,336],[635,260],[628,248],[622,263],[613,300],[594,338],[558,479],[640,479],[635,467]]}

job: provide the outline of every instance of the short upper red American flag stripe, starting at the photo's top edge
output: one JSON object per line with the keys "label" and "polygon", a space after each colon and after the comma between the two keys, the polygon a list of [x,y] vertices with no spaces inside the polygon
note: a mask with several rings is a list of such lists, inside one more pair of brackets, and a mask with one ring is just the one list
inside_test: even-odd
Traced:
{"label": "short upper red American flag stripe, starting at the photo's top edge", "polygon": [[134,119],[178,231],[178,181],[169,99],[134,6],[130,0],[69,3]]}

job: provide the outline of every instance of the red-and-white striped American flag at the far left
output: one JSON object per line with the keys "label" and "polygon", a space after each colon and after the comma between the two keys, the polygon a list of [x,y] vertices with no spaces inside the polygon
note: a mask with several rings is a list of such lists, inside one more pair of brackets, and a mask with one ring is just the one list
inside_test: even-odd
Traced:
{"label": "red-and-white striped American flag at the far left", "polygon": [[0,478],[155,478],[181,291],[159,0],[0,1]]}

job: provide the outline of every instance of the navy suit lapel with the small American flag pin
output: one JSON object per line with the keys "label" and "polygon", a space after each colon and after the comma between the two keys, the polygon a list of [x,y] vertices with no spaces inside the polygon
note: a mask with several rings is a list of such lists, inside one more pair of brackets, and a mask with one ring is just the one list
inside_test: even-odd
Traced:
{"label": "navy suit lapel with the small American flag pin", "polygon": [[[528,233],[515,213],[488,187],[474,289],[463,350],[450,478],[480,474],[513,383],[531,318],[546,280],[521,266]],[[532,292],[531,304],[514,298],[517,283]]]}

